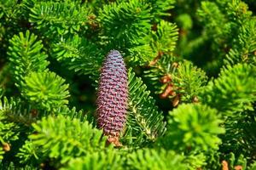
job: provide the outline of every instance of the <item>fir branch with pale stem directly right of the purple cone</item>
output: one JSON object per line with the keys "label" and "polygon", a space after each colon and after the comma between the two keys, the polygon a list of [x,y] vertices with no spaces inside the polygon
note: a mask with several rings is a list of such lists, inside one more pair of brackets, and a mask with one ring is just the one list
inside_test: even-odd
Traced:
{"label": "fir branch with pale stem directly right of the purple cone", "polygon": [[129,115],[123,139],[125,143],[132,145],[152,142],[165,133],[166,122],[141,78],[135,77],[131,69],[128,77]]}

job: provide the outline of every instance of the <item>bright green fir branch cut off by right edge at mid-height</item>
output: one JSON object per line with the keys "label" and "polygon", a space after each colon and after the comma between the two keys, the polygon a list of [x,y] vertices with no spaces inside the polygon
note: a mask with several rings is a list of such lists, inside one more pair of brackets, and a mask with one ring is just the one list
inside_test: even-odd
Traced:
{"label": "bright green fir branch cut off by right edge at mid-height", "polygon": [[252,110],[255,101],[255,66],[238,64],[222,69],[219,77],[207,85],[201,94],[202,101],[212,108],[232,115],[238,111]]}

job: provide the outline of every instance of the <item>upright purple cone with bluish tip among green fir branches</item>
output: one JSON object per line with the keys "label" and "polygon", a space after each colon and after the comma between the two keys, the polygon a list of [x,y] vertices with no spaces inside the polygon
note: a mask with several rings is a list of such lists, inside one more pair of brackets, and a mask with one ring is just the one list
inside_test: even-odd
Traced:
{"label": "upright purple cone with bluish tip among green fir branches", "polygon": [[111,50],[105,59],[97,96],[97,124],[108,137],[119,137],[126,122],[128,78],[119,51]]}

